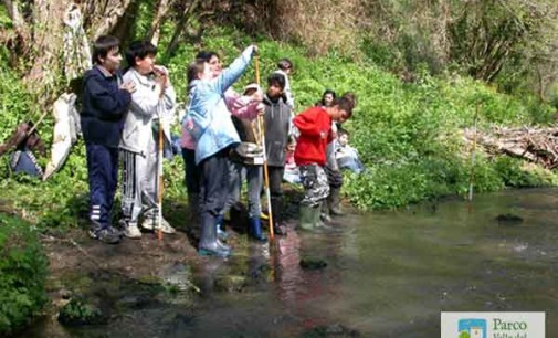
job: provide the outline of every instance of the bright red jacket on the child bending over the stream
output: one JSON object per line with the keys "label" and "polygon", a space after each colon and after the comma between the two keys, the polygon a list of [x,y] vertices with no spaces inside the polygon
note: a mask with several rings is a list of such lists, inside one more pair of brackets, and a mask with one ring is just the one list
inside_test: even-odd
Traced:
{"label": "bright red jacket on the child bending over the stream", "polygon": [[301,136],[296,144],[295,162],[297,166],[326,163],[326,147],[334,138],[331,117],[323,107],[312,107],[298,114],[293,124]]}

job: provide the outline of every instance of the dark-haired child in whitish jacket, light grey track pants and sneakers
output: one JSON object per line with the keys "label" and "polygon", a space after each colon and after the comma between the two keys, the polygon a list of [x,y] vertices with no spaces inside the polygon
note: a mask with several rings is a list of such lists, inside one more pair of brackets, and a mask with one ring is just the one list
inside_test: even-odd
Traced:
{"label": "dark-haired child in whitish jacket, light grey track pants and sneakers", "polygon": [[[169,120],[175,113],[176,94],[169,81],[167,68],[155,64],[157,47],[149,41],[134,41],[126,50],[129,70],[125,81],[136,85],[131,94],[131,104],[124,122],[120,138],[123,160],[124,235],[140,239],[138,220],[144,213],[141,228],[175,233],[175,229],[161,218],[157,205],[158,184],[158,136],[155,128],[164,129],[165,147],[170,149],[171,136],[164,120]],[[167,130],[165,130],[167,129]]]}

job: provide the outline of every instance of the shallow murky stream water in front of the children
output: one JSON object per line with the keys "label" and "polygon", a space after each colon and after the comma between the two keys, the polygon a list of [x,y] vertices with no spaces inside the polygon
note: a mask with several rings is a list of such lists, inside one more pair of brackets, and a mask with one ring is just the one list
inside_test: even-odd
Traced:
{"label": "shallow murky stream water in front of the children", "polygon": [[[501,214],[523,222],[498,223]],[[25,337],[439,337],[442,310],[546,311],[547,337],[558,337],[558,190],[339,222],[340,233],[292,232],[271,250],[208,260],[193,307],[157,296],[107,325],[66,329],[49,318]],[[303,257],[328,265],[304,271]],[[218,291],[230,275],[243,282]]]}

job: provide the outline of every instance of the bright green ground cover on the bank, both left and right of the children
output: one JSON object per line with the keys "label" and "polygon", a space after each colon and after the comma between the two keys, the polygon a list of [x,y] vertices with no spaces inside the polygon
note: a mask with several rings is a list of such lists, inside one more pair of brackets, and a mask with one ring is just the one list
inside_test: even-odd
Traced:
{"label": "bright green ground cover on the bank, both left and right of the children", "polygon": [[[253,39],[236,30],[214,28],[202,36],[199,45],[181,44],[171,59],[164,60],[171,71],[179,99],[186,99],[186,64],[199,50],[214,50],[228,64],[252,42]],[[464,196],[470,184],[471,149],[464,147],[461,130],[473,126],[477,106],[481,129],[492,124],[548,124],[552,119],[554,109],[548,105],[535,104],[529,96],[519,99],[497,93],[480,81],[459,74],[433,77],[423,71],[414,82],[407,83],[371,63],[355,62],[336,53],[307,59],[303,47],[265,39],[256,43],[261,50],[263,83],[275,68],[276,60],[287,56],[294,61],[292,86],[298,112],[319,99],[325,88],[356,92],[359,105],[345,127],[368,170],[358,177],[348,175],[344,189],[361,209],[401,207],[446,194]],[[0,76],[10,78],[11,75]],[[240,91],[254,77],[251,67],[235,87]],[[0,88],[15,91],[0,108],[10,116],[9,123],[0,127],[0,135],[7,135],[27,116],[30,107],[22,102],[29,102],[25,97],[30,94],[22,86],[8,86],[6,81]],[[49,133],[48,125],[41,129]],[[50,139],[45,131],[43,137]],[[2,161],[6,163],[7,159]],[[0,170],[2,177],[8,176],[6,166]],[[182,172],[179,157],[166,165],[166,199],[186,198]],[[84,147],[78,142],[63,169],[49,181],[9,177],[0,181],[0,189],[7,192],[17,210],[24,210],[40,224],[71,225],[87,213],[86,177]],[[550,172],[527,171],[519,160],[488,158],[476,152],[475,192],[556,181]],[[46,204],[52,207],[43,208]]]}

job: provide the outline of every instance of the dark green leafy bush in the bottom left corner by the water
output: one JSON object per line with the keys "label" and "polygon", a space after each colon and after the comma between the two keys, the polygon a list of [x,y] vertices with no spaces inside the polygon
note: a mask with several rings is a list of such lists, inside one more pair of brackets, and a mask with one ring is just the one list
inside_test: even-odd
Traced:
{"label": "dark green leafy bush in the bottom left corner by the water", "polygon": [[10,334],[39,314],[46,302],[46,257],[38,232],[0,213],[0,335]]}

